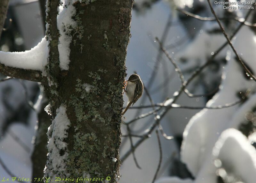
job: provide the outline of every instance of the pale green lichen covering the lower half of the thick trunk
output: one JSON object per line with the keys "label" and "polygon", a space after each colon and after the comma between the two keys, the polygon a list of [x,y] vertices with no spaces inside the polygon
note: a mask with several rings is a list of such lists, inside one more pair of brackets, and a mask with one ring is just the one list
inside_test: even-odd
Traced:
{"label": "pale green lichen covering the lower half of the thick trunk", "polygon": [[[122,63],[118,62],[123,61],[116,59],[115,62],[116,67],[121,68]],[[116,77],[124,77],[125,67],[122,68],[123,69],[120,69]],[[120,72],[123,73],[121,74]],[[88,165],[95,166],[95,169],[93,168],[93,170],[97,172],[97,174],[94,172],[93,175],[95,176],[102,174],[102,172],[113,171],[115,171],[115,176],[119,175],[119,172],[116,171],[116,167],[120,165],[118,156],[120,140],[118,139],[120,138],[121,132],[115,129],[120,130],[121,128],[122,105],[120,104],[123,104],[123,84],[120,82],[106,83],[104,78],[107,74],[108,71],[102,68],[98,69],[97,72],[89,72],[88,77],[91,78],[90,84],[85,83],[80,78],[76,79],[75,93],[70,96],[69,100],[69,105],[74,109],[76,115],[74,144],[78,143],[83,146],[79,147],[80,145],[75,145],[73,150],[71,150],[70,156],[72,156],[72,161],[77,162],[76,166],[83,165],[84,168],[88,167]],[[118,113],[120,113],[120,116],[116,115]],[[108,131],[109,135],[96,137],[96,132],[93,132],[94,129],[91,128],[91,126],[99,127],[104,133]],[[85,127],[90,133],[82,134]],[[99,139],[103,139],[101,143],[99,143]],[[83,144],[87,144],[87,147],[85,148]],[[100,165],[98,161],[94,161],[95,158],[101,159],[101,163],[104,167]],[[113,158],[116,158],[117,161],[113,162]],[[106,162],[111,162],[113,165],[109,164],[106,166]],[[90,171],[89,173],[91,175],[93,172],[92,170]]]}

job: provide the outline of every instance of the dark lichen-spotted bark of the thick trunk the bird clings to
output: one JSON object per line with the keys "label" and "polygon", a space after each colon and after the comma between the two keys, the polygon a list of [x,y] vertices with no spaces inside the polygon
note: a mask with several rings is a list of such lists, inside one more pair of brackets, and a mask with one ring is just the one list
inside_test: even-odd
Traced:
{"label": "dark lichen-spotted bark of the thick trunk the bird clings to", "polygon": [[[73,19],[78,26],[72,34],[69,70],[59,75],[48,72],[47,78],[56,78],[54,87],[44,83],[52,119],[60,105],[66,106],[71,126],[68,138],[64,139],[67,149],[60,150],[58,156],[67,153],[68,156],[64,165],[60,165],[65,170],[58,169],[52,163],[55,157],[50,151],[45,177],[104,178],[105,181],[109,176],[109,182],[116,182],[119,177],[122,87],[132,4],[132,0],[91,0],[74,4]],[[50,47],[50,53],[53,49]],[[50,65],[56,60],[49,57],[49,62]],[[57,139],[52,131],[54,126],[48,132],[49,138]]]}

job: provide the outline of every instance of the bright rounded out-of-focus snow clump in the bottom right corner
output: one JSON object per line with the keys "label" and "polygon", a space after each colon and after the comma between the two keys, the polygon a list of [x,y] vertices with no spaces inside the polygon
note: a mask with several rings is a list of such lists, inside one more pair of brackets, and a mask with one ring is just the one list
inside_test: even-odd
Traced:
{"label": "bright rounded out-of-focus snow clump in the bottom right corner", "polygon": [[223,131],[215,143],[213,156],[221,162],[224,179],[228,176],[246,183],[255,182],[256,150],[240,131],[234,128]]}

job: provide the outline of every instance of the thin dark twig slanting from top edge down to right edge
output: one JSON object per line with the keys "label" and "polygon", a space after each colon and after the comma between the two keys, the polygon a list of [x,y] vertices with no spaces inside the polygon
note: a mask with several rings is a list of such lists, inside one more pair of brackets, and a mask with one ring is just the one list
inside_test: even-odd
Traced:
{"label": "thin dark twig slanting from top edge down to right edge", "polygon": [[214,17],[216,18],[216,20],[217,20],[217,22],[218,22],[218,24],[219,24],[219,26],[220,26],[220,29],[221,29],[222,33],[224,34],[225,38],[226,38],[227,41],[228,41],[228,44],[230,45],[230,47],[232,48],[233,52],[235,53],[235,55],[236,55],[236,57],[237,57],[239,63],[240,63],[241,66],[243,67],[244,71],[256,82],[256,77],[255,77],[255,76],[252,74],[252,72],[246,67],[246,65],[244,64],[244,62],[241,60],[240,56],[237,54],[236,49],[234,48],[234,46],[233,46],[233,44],[231,43],[230,39],[228,38],[227,33],[225,32],[223,26],[222,26],[221,23],[220,23],[219,18],[217,17],[217,15],[216,15],[214,9],[212,8],[212,4],[210,3],[210,0],[207,0],[207,1],[208,1],[208,4],[209,4],[210,8],[211,8],[212,14],[213,14]]}

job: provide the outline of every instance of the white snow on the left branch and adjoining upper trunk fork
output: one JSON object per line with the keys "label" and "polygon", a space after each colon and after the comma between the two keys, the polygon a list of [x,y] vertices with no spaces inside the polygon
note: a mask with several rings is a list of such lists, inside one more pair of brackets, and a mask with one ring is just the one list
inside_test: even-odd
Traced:
{"label": "white snow on the left branch and adjoining upper trunk fork", "polygon": [[[60,59],[60,69],[69,69],[69,54],[70,48],[69,44],[72,41],[71,32],[77,27],[76,22],[72,17],[76,14],[75,7],[71,4],[71,0],[64,1],[63,7],[60,7],[60,13],[57,16],[57,27],[60,31],[59,37],[59,59]],[[46,28],[49,25],[46,24]],[[49,37],[49,40],[51,38]],[[24,52],[3,52],[0,51],[0,62],[6,66],[20,68],[20,69],[31,69],[31,70],[44,70],[47,64],[47,55],[49,53],[48,49],[49,41],[46,41],[45,37],[40,43],[38,43],[34,48]]]}

